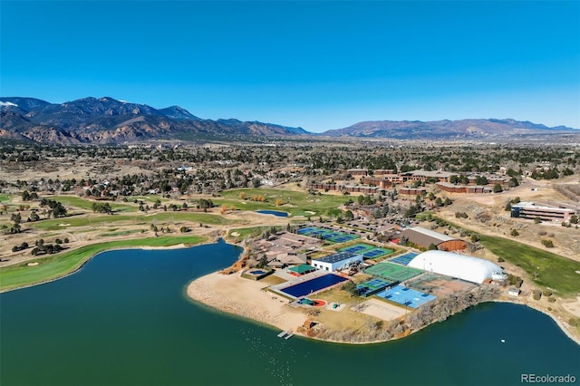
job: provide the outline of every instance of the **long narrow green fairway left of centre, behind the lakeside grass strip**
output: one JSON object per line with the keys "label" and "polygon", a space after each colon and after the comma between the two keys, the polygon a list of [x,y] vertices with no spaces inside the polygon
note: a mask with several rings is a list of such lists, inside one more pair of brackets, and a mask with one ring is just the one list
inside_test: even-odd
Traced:
{"label": "long narrow green fairway left of centre, behind the lakeside grass strip", "polygon": [[43,230],[66,229],[67,227],[95,227],[101,225],[114,225],[122,221],[129,221],[132,224],[150,224],[152,222],[169,222],[176,224],[181,221],[198,222],[210,225],[227,225],[235,224],[236,220],[227,219],[219,215],[208,213],[189,213],[189,212],[158,212],[145,214],[135,212],[131,215],[98,215],[98,216],[72,216],[53,218],[50,220],[37,221],[30,223],[32,227]]}

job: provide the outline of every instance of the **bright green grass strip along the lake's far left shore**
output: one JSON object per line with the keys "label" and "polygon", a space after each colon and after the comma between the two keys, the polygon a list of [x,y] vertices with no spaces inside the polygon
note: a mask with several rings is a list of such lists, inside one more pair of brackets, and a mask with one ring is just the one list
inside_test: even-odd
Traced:
{"label": "bright green grass strip along the lake's far left shore", "polygon": [[[204,237],[200,236],[160,236],[82,246],[58,255],[42,257],[21,265],[11,265],[0,269],[0,291],[25,285],[34,285],[35,283],[70,274],[79,269],[92,256],[108,249],[140,246],[175,246],[179,244],[195,245],[205,240]],[[39,265],[26,265],[31,262],[38,262]]]}

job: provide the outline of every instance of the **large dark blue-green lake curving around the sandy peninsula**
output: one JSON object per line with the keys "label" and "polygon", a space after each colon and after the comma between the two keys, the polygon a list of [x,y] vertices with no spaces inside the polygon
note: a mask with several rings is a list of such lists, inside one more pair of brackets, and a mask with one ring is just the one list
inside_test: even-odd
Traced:
{"label": "large dark blue-green lake curving around the sandy peninsula", "polygon": [[62,280],[0,294],[0,384],[515,385],[521,373],[580,382],[580,346],[516,304],[479,304],[400,341],[353,346],[285,341],[189,301],[192,278],[240,252],[223,241],[111,251]]}

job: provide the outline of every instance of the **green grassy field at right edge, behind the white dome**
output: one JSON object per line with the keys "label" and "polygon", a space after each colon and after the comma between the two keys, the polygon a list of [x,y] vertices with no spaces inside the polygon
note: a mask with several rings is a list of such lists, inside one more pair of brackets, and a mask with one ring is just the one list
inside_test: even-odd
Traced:
{"label": "green grassy field at right edge, behind the white dome", "polygon": [[576,273],[580,272],[580,263],[507,238],[479,237],[483,246],[524,269],[537,285],[549,287],[561,295],[580,294],[580,275]]}

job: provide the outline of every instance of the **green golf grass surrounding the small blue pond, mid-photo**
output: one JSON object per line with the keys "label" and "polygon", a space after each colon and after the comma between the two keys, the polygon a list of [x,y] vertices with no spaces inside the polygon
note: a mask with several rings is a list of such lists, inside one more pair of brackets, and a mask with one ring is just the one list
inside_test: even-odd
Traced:
{"label": "green golf grass surrounding the small blue pond, mid-photo", "polygon": [[[240,198],[241,193],[246,194],[246,199]],[[348,199],[343,196],[314,196],[302,191],[275,188],[231,189],[222,192],[221,196],[221,198],[212,198],[214,204],[236,207],[240,210],[280,210],[288,212],[292,216],[305,217],[327,216],[329,210],[342,205]],[[252,196],[264,196],[266,202],[252,201],[250,199]],[[282,200],[284,205],[276,207],[275,201],[277,199]],[[314,212],[314,214],[308,212]]]}

